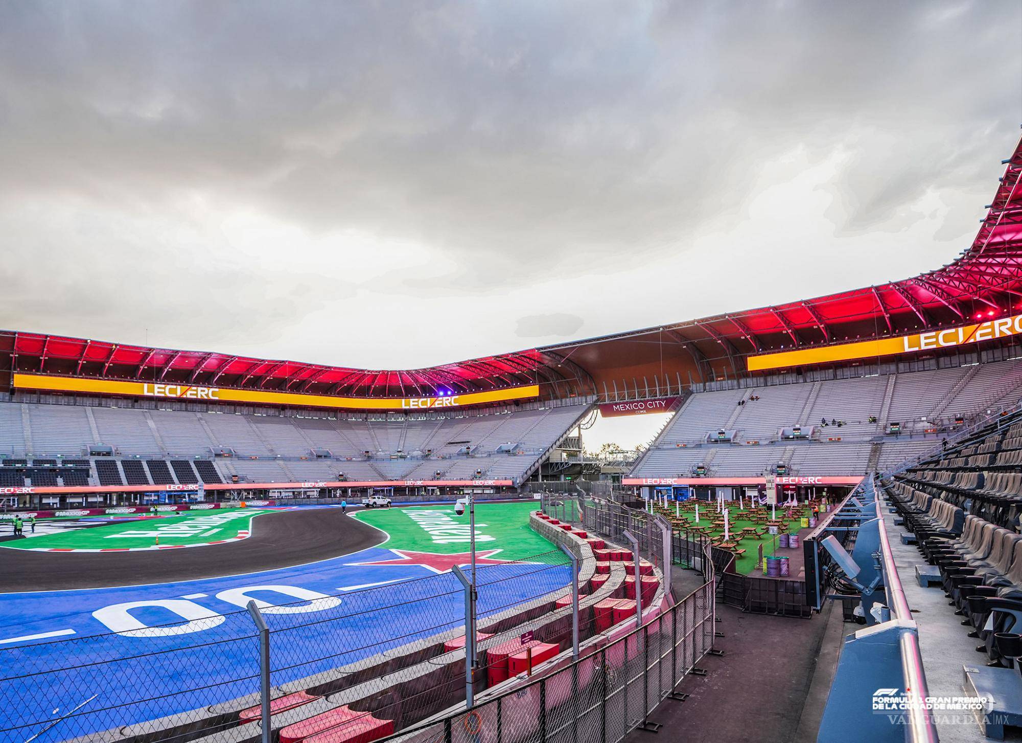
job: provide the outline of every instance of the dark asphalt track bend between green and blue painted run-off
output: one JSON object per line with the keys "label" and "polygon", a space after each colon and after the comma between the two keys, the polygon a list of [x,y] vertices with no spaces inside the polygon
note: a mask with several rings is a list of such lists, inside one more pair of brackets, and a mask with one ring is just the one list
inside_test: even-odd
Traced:
{"label": "dark asphalt track bend between green and blue painted run-off", "polygon": [[191,581],[301,565],[365,550],[386,535],[339,508],[300,508],[252,519],[240,542],[186,550],[53,553],[0,550],[0,594]]}

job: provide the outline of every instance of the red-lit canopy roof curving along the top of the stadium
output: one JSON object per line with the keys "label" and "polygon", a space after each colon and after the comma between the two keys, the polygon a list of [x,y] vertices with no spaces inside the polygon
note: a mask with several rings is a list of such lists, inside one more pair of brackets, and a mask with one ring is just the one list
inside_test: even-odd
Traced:
{"label": "red-lit canopy roof curving along the top of the stadium", "polygon": [[[776,307],[531,349],[429,369],[373,371],[175,351],[40,333],[0,332],[9,368],[109,377],[353,397],[426,397],[523,383],[566,397],[594,389],[594,377],[681,373],[682,362],[706,378],[713,360],[735,373],[749,354],[900,334],[1018,311],[1022,297],[1022,140],[972,245],[951,263],[919,276]],[[660,345],[642,336],[656,335]],[[665,363],[663,344],[672,346]],[[684,351],[681,351],[684,350]],[[647,359],[643,359],[643,355]],[[652,371],[658,360],[659,371]],[[694,362],[694,366],[693,366]],[[644,366],[645,365],[645,366]],[[698,379],[697,379],[698,380]]]}

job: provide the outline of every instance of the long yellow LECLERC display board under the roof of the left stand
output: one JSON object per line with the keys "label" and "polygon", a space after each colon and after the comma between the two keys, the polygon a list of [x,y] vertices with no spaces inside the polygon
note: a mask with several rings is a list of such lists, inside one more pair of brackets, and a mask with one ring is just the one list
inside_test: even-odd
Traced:
{"label": "long yellow LECLERC display board under the roof of the left stand", "polygon": [[125,382],[112,379],[55,377],[46,374],[14,373],[14,387],[54,392],[86,392],[89,394],[123,394],[133,398],[173,398],[201,400],[214,403],[248,403],[251,405],[295,405],[306,408],[341,408],[346,410],[432,410],[461,408],[511,400],[531,400],[540,397],[540,385],[491,389],[436,398],[339,398],[329,394],[276,392],[263,389],[205,387],[194,384],[162,382]]}

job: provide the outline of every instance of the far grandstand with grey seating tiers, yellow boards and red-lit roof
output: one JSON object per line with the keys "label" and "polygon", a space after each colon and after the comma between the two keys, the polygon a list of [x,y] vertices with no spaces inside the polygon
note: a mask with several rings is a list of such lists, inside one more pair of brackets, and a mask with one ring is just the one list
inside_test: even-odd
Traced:
{"label": "far grandstand with grey seating tiers, yellow boards and red-lit roof", "polygon": [[6,331],[4,483],[54,504],[199,483],[517,489],[565,477],[549,465],[578,458],[595,411],[654,408],[672,415],[625,484],[882,471],[1022,393],[1018,159],[973,243],[935,271],[430,369]]}

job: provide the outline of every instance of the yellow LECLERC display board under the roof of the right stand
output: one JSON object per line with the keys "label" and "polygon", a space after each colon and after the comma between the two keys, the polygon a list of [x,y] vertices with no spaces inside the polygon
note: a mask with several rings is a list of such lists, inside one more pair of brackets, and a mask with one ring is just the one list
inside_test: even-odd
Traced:
{"label": "yellow LECLERC display board under the roof of the right stand", "polygon": [[782,351],[777,354],[760,354],[750,356],[747,360],[749,371],[766,371],[769,369],[787,369],[793,366],[809,364],[827,364],[835,361],[850,361],[852,359],[872,359],[879,356],[894,356],[895,354],[914,354],[921,351],[949,349],[967,343],[979,343],[983,340],[1005,338],[1010,335],[1022,334],[1022,315],[987,320],[974,325],[964,325],[958,328],[931,330],[926,333],[899,335],[894,338],[878,338],[876,340],[861,340],[855,343],[841,345],[825,345],[819,349],[796,349]]}

